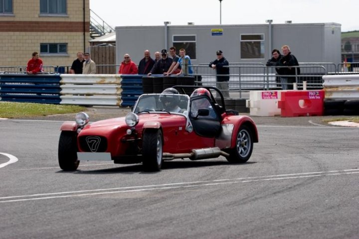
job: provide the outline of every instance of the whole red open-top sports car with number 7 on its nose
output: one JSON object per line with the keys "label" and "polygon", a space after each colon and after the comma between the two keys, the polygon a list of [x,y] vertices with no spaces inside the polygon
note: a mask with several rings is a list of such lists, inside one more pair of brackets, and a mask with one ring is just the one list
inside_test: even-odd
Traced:
{"label": "whole red open-top sports car with number 7 on its nose", "polygon": [[75,122],[65,121],[58,161],[65,171],[76,170],[81,160],[142,162],[145,171],[158,171],[164,160],[176,158],[222,155],[231,163],[244,163],[255,142],[253,120],[226,110],[217,88],[175,86],[161,94],[141,95],[126,117],[89,123],[86,113],[78,113]]}

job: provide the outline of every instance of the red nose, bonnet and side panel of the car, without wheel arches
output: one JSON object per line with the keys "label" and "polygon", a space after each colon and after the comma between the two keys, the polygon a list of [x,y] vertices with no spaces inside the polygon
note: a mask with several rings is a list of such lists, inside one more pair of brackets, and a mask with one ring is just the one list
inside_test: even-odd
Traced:
{"label": "red nose, bonnet and side panel of the car, without wheel arches", "polygon": [[[191,152],[193,148],[214,146],[214,138],[204,138],[198,136],[194,131],[186,131],[186,118],[184,116],[175,114],[140,114],[138,116],[140,120],[135,126],[138,138],[142,138],[142,133],[147,128],[157,128],[156,125],[161,125],[164,152],[185,153]],[[126,154],[129,145],[124,140],[135,138],[133,134],[128,135],[126,133],[126,130],[130,128],[125,123],[125,117],[106,119],[86,125],[79,133],[79,137],[85,135],[104,136],[108,142],[106,152],[111,152],[112,157],[121,156]],[[78,146],[79,151],[83,151],[80,144]],[[139,146],[142,147],[142,140]]]}

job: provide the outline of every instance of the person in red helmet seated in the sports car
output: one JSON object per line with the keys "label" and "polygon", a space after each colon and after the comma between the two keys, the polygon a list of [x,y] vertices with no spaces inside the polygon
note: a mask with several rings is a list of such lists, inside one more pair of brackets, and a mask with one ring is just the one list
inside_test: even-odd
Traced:
{"label": "person in red helmet seated in the sports car", "polygon": [[[199,98],[199,96],[206,96],[206,97]],[[198,99],[195,99],[195,98],[198,98]],[[205,89],[205,88],[195,89],[192,92],[192,94],[190,95],[190,99],[191,99],[191,115],[193,117],[208,118],[208,119],[216,119],[217,118],[217,115],[216,115],[212,105],[209,102],[209,100],[211,99],[211,95],[207,89]],[[204,117],[197,116],[199,109],[207,109],[209,111],[209,115],[204,116]]]}

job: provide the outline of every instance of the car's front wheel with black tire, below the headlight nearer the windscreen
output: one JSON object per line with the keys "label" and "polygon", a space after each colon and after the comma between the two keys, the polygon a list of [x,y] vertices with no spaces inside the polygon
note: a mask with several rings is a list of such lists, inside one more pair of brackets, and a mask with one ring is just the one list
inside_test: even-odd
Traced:
{"label": "car's front wheel with black tire, below the headlight nearer the windscreen", "polygon": [[147,129],[143,135],[143,167],[145,171],[159,171],[162,167],[163,138],[160,129]]}

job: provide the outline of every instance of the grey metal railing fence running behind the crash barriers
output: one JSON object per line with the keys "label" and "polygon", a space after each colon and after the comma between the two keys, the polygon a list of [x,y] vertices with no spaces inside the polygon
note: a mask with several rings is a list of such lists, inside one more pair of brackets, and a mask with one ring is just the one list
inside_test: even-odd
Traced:
{"label": "grey metal railing fence running behind the crash barriers", "polygon": [[[119,65],[97,65],[97,73],[117,74]],[[230,98],[248,98],[250,90],[281,90],[282,84],[275,68],[262,63],[230,63],[229,93]],[[69,73],[71,66],[44,66],[45,73]],[[324,75],[358,74],[359,62],[354,63],[299,63],[300,75],[294,77],[298,89],[303,88],[303,82],[309,89],[322,89]],[[0,67],[0,72],[24,73],[25,66]],[[198,86],[216,86],[216,71],[208,64],[193,65],[193,74]]]}

